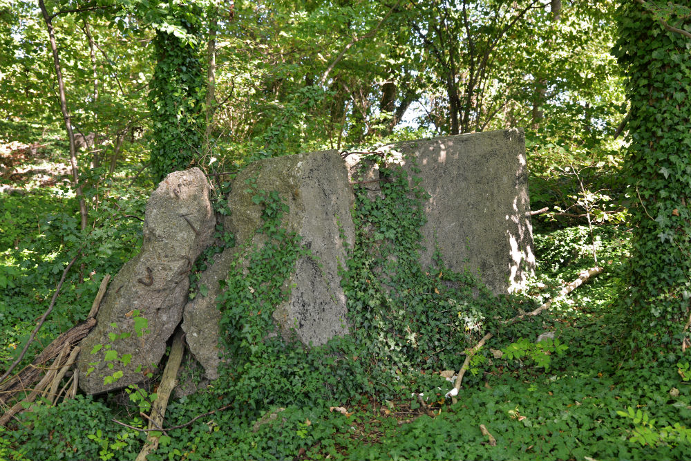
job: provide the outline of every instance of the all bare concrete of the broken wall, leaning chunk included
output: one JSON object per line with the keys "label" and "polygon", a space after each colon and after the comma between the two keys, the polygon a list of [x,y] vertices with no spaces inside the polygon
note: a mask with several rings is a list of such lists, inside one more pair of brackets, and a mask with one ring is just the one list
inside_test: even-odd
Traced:
{"label": "all bare concrete of the broken wall, leaning chunk included", "polygon": [[[422,229],[425,242],[422,265],[432,263],[438,247],[444,263],[455,271],[470,270],[495,293],[519,286],[533,271],[533,241],[529,216],[527,164],[522,131],[506,130],[435,140],[403,142],[390,147],[395,162],[410,176],[419,176],[430,198],[424,203],[428,222]],[[401,155],[402,154],[402,155]],[[351,158],[353,180],[365,182],[370,199],[382,194],[373,162],[358,169]],[[414,171],[415,168],[420,171]],[[252,178],[254,190],[248,190]],[[247,243],[263,245],[262,206],[252,198],[258,190],[276,191],[290,211],[283,225],[301,236],[311,256],[300,258],[285,281],[287,302],[275,306],[274,320],[286,338],[295,333],[303,344],[324,344],[348,334],[347,308],[341,288],[339,265],[345,266],[346,244],[354,245],[350,208],[354,203],[348,168],[337,151],[303,153],[261,160],[234,179],[228,197],[231,215],[224,227],[236,236],[237,245],[214,257],[201,274],[208,288],[187,300],[188,272],[204,247],[211,243],[216,218],[208,198],[208,185],[198,169],[167,176],[146,206],[142,252],[115,276],[98,314],[97,327],[84,339],[79,357],[79,385],[87,393],[100,393],[142,382],[142,371],[158,366],[165,343],[183,317],[183,330],[191,353],[208,378],[218,376],[219,281],[229,267],[247,257]],[[245,266],[243,266],[245,267]],[[149,321],[149,332],[133,332],[133,311]],[[115,323],[115,326],[111,326]],[[132,332],[113,341],[109,334]],[[95,344],[111,345],[118,357],[131,354],[131,363],[104,360],[106,348],[91,355]],[[91,363],[97,362],[93,373]],[[108,364],[114,364],[113,369]],[[124,372],[116,383],[103,379]],[[88,375],[88,376],[87,376]]]}

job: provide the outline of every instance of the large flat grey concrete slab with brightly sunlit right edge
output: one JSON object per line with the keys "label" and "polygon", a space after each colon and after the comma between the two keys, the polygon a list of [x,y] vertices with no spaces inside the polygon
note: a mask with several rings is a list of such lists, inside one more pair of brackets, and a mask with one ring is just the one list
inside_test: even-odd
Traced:
{"label": "large flat grey concrete slab with brightly sunlit right edge", "polygon": [[451,270],[479,274],[496,294],[520,287],[535,270],[523,131],[402,142],[392,149],[404,154],[404,168],[422,178],[430,195],[422,265],[432,263],[437,245]]}

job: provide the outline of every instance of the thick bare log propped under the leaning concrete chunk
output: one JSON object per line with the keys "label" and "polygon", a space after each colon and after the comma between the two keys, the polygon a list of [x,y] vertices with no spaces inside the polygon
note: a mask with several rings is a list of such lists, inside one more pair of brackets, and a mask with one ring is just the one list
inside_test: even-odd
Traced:
{"label": "thick bare log propped under the leaning concrete chunk", "polygon": [[[151,417],[146,418],[149,420],[149,429],[164,432],[162,429],[163,419],[164,415],[166,414],[168,399],[170,398],[170,395],[177,384],[176,378],[178,377],[178,369],[180,369],[183,352],[184,335],[182,332],[178,331],[173,339],[173,346],[171,347],[171,353],[168,357],[168,363],[166,364],[165,370],[163,370],[163,377],[161,378],[161,383],[158,386],[158,392],[156,393],[158,397],[151,406]],[[146,456],[158,448],[159,438],[160,435],[147,435],[146,442],[144,442],[142,451],[139,452],[136,461],[146,461]]]}

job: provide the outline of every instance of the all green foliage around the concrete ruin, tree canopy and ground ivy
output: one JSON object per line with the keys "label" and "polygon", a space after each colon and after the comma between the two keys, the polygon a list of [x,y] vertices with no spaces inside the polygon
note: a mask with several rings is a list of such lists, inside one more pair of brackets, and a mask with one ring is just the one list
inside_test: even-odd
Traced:
{"label": "all green foliage around the concrete ruin, tree canopy and ground ivy", "polygon": [[[72,3],[53,7],[70,9]],[[342,262],[351,335],[303,348],[272,336],[272,311],[285,299],[296,259],[312,256],[283,229],[280,198],[256,191],[256,203],[265,209],[258,245],[237,243],[247,265],[233,268],[218,300],[227,334],[225,370],[206,391],[173,399],[167,425],[232,405],[168,431],[149,459],[687,458],[688,357],[646,346],[685,345],[688,337],[680,325],[688,318],[691,292],[690,173],[683,155],[691,113],[689,46],[659,25],[662,19],[688,30],[688,7],[647,1],[643,8],[630,2],[622,10],[615,53],[630,70],[632,95],[632,155],[623,165],[612,133],[627,106],[607,55],[617,32],[610,24],[616,2],[564,3],[560,19],[536,4],[511,26],[529,2],[481,1],[468,10],[453,1],[413,1],[391,10],[378,2],[346,3],[124,0],[118,2],[122,8],[55,17],[73,124],[84,133],[104,133],[109,144],[102,157],[113,152],[118,135],[126,134],[127,141],[111,177],[102,167],[91,168],[98,147],[79,153],[81,183],[93,205],[91,232],[75,232],[76,202],[67,187],[0,196],[0,360],[21,350],[73,256],[79,252],[29,356],[83,319],[102,276],[114,274],[137,250],[141,223],[126,216],[143,216],[146,194],[120,180],[137,173],[132,165],[141,162],[150,138],[155,179],[191,164],[206,166],[207,153],[200,155],[200,55],[211,7],[218,18],[219,106],[214,157],[208,159],[213,167],[234,171],[265,156],[447,133],[451,111],[460,115],[463,129],[525,126],[533,209],[553,209],[533,217],[536,229],[553,231],[536,235],[538,278],[550,290],[531,292],[533,299],[493,297],[472,274],[453,274],[443,261],[419,267],[422,191],[409,189],[395,167],[381,165],[381,200],[369,200],[356,187],[357,242]],[[80,32],[84,21],[100,45],[96,76]],[[424,53],[430,49],[426,39],[435,53]],[[0,138],[47,144],[28,160],[30,168],[42,153],[66,162],[64,134],[56,136],[50,126],[61,117],[45,51],[35,4],[0,0],[0,90],[6,95]],[[473,64],[485,56],[489,66]],[[449,82],[462,94],[460,106],[451,104]],[[412,126],[401,129],[409,107],[406,123]],[[133,136],[135,126],[144,128],[144,138]],[[14,161],[4,153],[0,160],[3,167]],[[147,175],[149,170],[138,184],[149,187]],[[3,173],[6,178],[14,184],[15,176]],[[22,181],[39,185],[38,179]],[[633,186],[626,189],[627,183]],[[623,208],[629,203],[634,220],[617,225],[628,218]],[[223,201],[216,211],[227,214]],[[593,234],[585,227],[560,228],[583,224],[586,212],[597,224]],[[207,250],[194,266],[190,297],[206,295],[195,278],[211,256],[236,244],[231,235],[219,231],[217,237],[223,245]],[[591,267],[593,245],[605,274],[554,303],[549,313],[501,323]],[[629,284],[620,270],[627,261],[634,265]],[[629,305],[619,305],[623,293],[630,294]],[[545,330],[555,331],[559,342],[530,341]],[[460,368],[464,351],[487,331],[495,337],[473,357],[459,404],[447,405],[444,393],[451,385],[437,372]],[[111,339],[123,334],[135,331],[113,332]],[[623,341],[637,343],[634,360],[622,360],[630,357],[621,354]],[[129,359],[106,346],[108,364]],[[491,348],[503,350],[504,359]],[[530,364],[535,366],[525,366]],[[111,418],[143,428],[138,411],[150,411],[155,394],[128,391],[133,414],[122,402],[111,409],[81,395],[53,408],[35,404],[15,430],[0,428],[0,458],[134,458],[144,434]],[[419,393],[435,417],[420,416]],[[479,424],[495,435],[497,446],[486,444]]]}

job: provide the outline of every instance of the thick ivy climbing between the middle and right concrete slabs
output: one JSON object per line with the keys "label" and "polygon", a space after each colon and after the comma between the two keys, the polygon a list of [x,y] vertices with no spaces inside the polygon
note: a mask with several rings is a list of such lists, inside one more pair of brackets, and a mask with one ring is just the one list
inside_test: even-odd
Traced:
{"label": "thick ivy climbing between the middle and right concrete slabs", "polygon": [[356,190],[357,241],[342,282],[352,334],[390,376],[460,368],[463,350],[482,337],[502,300],[484,288],[473,297],[472,274],[454,274],[441,261],[420,267],[424,191],[415,181],[410,189],[400,167],[382,164],[380,175],[382,197]]}

